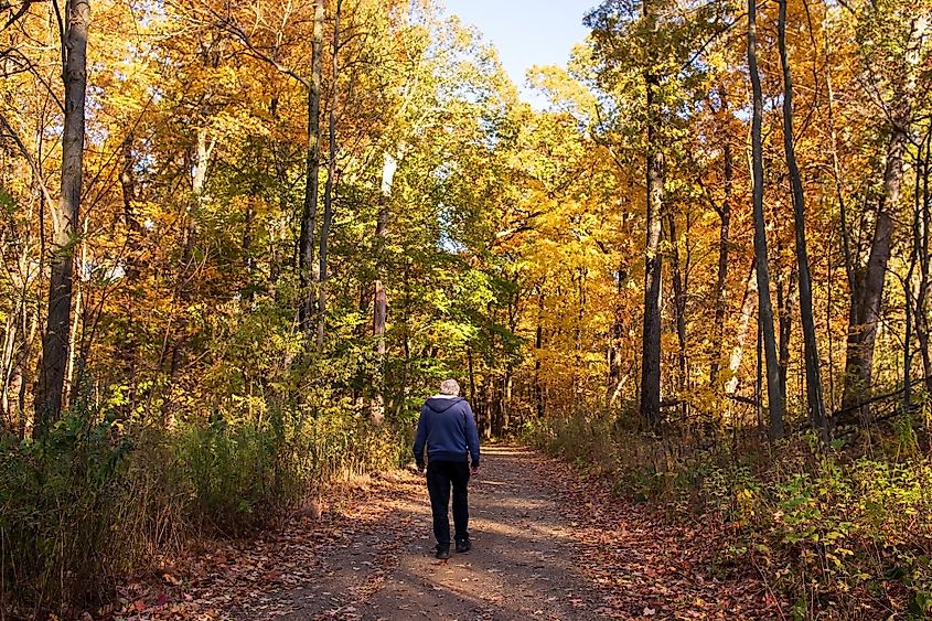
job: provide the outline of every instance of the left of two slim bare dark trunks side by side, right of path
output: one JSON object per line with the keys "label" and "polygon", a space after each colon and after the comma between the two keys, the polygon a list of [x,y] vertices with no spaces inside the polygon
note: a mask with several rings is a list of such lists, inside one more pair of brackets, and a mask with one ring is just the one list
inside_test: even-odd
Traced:
{"label": "left of two slim bare dark trunks side by side, right of path", "polygon": [[767,257],[767,229],[763,221],[763,146],[761,124],[763,96],[758,73],[757,0],[748,0],[748,69],[753,90],[751,151],[753,168],[754,257],[758,276],[758,323],[763,338],[767,358],[767,394],[770,409],[770,435],[783,437],[783,395],[780,392],[780,367],[776,361],[776,340],[773,334],[773,309],[770,304],[770,274]]}

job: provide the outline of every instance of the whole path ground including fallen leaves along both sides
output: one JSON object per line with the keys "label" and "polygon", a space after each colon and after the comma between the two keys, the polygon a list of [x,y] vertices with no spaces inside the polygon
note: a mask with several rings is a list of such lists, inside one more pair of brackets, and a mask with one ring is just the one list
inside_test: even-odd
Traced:
{"label": "whole path ground including fallen leaves along both sides", "polygon": [[[727,531],[672,521],[529,449],[483,449],[473,549],[433,558],[422,477],[354,488],[323,514],[204,547],[124,588],[124,619],[779,619],[753,568],[716,563]],[[157,580],[157,581],[158,581]],[[126,613],[130,614],[126,614]]]}

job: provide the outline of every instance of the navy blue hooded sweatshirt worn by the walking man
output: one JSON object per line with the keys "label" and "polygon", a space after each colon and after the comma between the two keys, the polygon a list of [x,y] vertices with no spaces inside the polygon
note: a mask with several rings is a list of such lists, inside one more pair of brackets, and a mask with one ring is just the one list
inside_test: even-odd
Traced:
{"label": "navy blue hooded sweatshirt worn by the walking man", "polygon": [[469,403],[462,397],[430,397],[420,408],[415,437],[415,461],[424,468],[424,447],[430,461],[470,461],[479,468],[479,430]]}

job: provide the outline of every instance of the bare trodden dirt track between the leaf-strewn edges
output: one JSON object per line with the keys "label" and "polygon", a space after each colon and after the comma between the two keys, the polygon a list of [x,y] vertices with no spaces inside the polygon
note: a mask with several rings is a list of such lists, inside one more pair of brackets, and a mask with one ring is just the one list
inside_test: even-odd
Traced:
{"label": "bare trodden dirt track between the leaf-strewn edges", "polygon": [[540,460],[523,448],[483,448],[470,481],[473,548],[447,563],[433,558],[424,480],[406,477],[384,522],[323,559],[320,580],[282,593],[294,610],[286,619],[610,618],[597,611],[598,592],[575,565],[572,526],[533,468]]}

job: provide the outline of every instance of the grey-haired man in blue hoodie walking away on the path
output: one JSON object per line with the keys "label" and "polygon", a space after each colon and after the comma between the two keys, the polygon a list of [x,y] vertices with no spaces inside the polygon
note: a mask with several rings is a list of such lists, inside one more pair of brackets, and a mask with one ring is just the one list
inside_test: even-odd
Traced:
{"label": "grey-haired man in blue hoodie walking away on the path", "polygon": [[[420,409],[415,437],[415,461],[424,472],[427,446],[427,492],[433,514],[437,558],[450,558],[450,521],[447,506],[453,488],[453,527],[457,552],[469,552],[469,475],[479,472],[479,431],[469,403],[460,395],[456,379],[444,379],[440,394]],[[470,468],[470,459],[472,468]]]}

